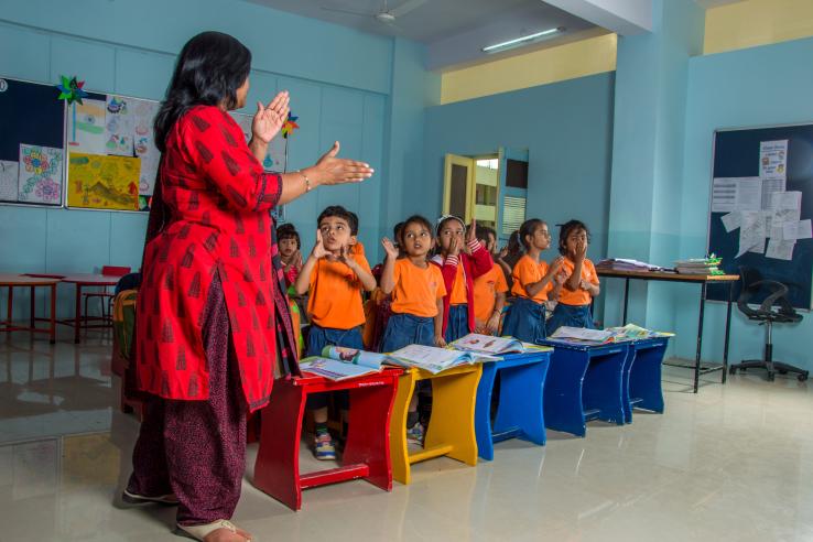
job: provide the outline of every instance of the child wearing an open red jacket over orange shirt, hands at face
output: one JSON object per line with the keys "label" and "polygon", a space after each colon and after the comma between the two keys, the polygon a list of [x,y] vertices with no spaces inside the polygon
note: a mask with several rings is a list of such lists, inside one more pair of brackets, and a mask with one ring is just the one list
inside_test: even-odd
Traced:
{"label": "child wearing an open red jacket over orange shirt, hands at face", "polygon": [[[443,345],[475,329],[474,281],[494,267],[491,254],[477,240],[477,221],[466,231],[463,219],[445,215],[437,221],[437,254],[432,263],[443,273]],[[465,239],[464,239],[465,236]]]}

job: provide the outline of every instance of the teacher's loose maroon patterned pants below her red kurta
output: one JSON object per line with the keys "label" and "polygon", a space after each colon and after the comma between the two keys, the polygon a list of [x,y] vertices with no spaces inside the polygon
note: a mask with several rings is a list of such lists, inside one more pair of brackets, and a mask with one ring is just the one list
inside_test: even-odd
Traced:
{"label": "teacher's loose maroon patterned pants below her red kurta", "polygon": [[209,398],[150,397],[127,486],[149,497],[175,494],[177,522],[186,525],[230,519],[246,468],[247,405],[219,280],[209,290],[203,329]]}

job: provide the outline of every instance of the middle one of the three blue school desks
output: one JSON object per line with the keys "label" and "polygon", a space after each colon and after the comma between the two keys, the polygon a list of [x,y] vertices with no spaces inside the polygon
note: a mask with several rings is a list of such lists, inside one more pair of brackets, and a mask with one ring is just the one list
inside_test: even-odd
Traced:
{"label": "middle one of the three blue school desks", "polygon": [[622,380],[631,345],[545,339],[553,347],[544,389],[545,426],[585,436],[587,422],[625,421]]}

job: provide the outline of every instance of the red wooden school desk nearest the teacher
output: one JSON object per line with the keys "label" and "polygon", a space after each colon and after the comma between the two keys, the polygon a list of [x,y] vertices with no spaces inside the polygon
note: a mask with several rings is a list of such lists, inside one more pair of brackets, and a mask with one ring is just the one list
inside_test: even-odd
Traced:
{"label": "red wooden school desk nearest the teacher", "polygon": [[[260,449],[254,486],[293,510],[302,507],[302,490],[364,478],[390,491],[390,413],[401,369],[334,382],[304,373],[274,382],[271,401],[262,409]],[[300,442],[305,402],[311,393],[348,390],[350,410],[344,465],[300,474]]]}

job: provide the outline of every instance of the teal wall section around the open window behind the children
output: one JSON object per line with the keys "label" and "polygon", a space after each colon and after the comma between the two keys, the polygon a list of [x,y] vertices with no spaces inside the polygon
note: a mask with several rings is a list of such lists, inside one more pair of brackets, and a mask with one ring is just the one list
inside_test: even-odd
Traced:
{"label": "teal wall section around the open window behind the children", "polygon": [[424,175],[406,185],[404,210],[433,219],[441,213],[446,153],[477,155],[500,147],[528,149],[528,218],[553,232],[571,218],[593,234],[588,257],[607,250],[613,150],[613,73],[514,90],[426,110]]}

